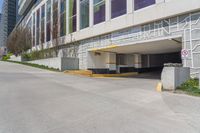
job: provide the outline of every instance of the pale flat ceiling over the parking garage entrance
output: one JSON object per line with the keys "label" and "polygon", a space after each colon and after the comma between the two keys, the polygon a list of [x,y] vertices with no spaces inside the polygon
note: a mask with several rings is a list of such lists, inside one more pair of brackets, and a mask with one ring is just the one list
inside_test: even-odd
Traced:
{"label": "pale flat ceiling over the parking garage entrance", "polygon": [[163,40],[140,42],[129,45],[110,45],[103,48],[91,49],[90,51],[114,52],[114,53],[140,53],[160,54],[179,52],[182,48],[181,38],[169,38]]}

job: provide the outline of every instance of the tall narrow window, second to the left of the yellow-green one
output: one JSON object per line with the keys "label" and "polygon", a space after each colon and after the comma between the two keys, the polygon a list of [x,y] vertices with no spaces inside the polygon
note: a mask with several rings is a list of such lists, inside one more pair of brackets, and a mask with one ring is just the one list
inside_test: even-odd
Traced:
{"label": "tall narrow window, second to the left of the yellow-green one", "polygon": [[58,0],[53,1],[53,39],[58,37]]}

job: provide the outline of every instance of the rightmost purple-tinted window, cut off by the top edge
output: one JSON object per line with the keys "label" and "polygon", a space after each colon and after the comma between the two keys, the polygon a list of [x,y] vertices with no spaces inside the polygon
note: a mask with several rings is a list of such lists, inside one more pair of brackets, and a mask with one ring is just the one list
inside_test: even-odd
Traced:
{"label": "rightmost purple-tinted window, cut off by the top edge", "polygon": [[155,0],[135,0],[134,2],[134,6],[135,6],[135,10],[150,6],[155,4]]}

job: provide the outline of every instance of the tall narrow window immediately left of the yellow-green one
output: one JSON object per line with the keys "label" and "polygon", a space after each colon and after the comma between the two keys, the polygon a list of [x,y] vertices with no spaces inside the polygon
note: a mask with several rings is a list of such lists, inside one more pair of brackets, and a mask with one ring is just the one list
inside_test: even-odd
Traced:
{"label": "tall narrow window immediately left of the yellow-green one", "polygon": [[66,0],[60,1],[60,36],[66,35]]}

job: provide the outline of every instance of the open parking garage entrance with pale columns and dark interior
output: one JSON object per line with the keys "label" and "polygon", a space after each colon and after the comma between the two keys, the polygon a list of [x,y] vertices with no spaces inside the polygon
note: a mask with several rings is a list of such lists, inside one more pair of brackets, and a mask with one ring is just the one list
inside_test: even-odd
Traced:
{"label": "open parking garage entrance with pale columns and dark interior", "polygon": [[94,73],[161,72],[165,63],[182,63],[182,38],[146,41],[89,52]]}

